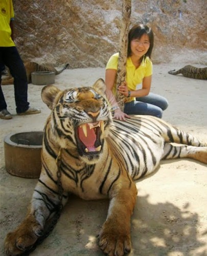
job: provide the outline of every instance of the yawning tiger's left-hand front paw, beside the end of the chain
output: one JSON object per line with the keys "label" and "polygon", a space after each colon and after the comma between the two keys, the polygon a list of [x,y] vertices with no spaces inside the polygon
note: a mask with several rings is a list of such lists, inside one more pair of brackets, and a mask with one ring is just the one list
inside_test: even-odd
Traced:
{"label": "yawning tiger's left-hand front paw, beside the end of the chain", "polygon": [[28,251],[42,235],[42,227],[34,217],[28,217],[13,232],[7,234],[5,239],[5,252],[8,255],[20,255]]}

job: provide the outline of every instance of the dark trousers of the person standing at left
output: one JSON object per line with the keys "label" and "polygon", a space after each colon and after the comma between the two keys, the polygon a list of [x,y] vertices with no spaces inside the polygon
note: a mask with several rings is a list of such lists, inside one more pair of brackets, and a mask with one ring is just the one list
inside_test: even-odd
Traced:
{"label": "dark trousers of the person standing at left", "polygon": [[[16,112],[22,113],[28,110],[29,102],[27,98],[28,82],[23,61],[16,47],[0,47],[0,84],[2,82],[2,69],[4,65],[10,70],[14,78],[14,98]],[[7,109],[7,103],[0,87],[0,111]]]}

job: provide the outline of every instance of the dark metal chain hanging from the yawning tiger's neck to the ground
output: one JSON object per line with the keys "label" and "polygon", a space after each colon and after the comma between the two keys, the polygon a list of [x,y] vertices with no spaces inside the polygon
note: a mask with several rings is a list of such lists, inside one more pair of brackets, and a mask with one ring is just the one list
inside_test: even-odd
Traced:
{"label": "dark metal chain hanging from the yawning tiger's neck to the ground", "polygon": [[62,205],[62,197],[63,197],[63,188],[62,188],[62,182],[61,182],[61,170],[60,170],[60,165],[61,165],[61,154],[62,154],[62,148],[60,148],[60,151],[58,153],[58,156],[56,158],[56,164],[57,164],[57,185],[58,185],[58,199],[59,199],[59,204],[56,206],[55,209],[55,215],[51,219],[48,227],[44,230],[44,233],[41,237],[37,239],[35,244],[32,246],[32,248],[28,251],[25,251],[24,253],[20,254],[21,256],[28,256],[32,251],[36,249],[36,247],[41,244],[45,238],[49,236],[49,234],[53,231],[55,225],[57,224],[57,221],[60,218],[61,211],[63,208]]}

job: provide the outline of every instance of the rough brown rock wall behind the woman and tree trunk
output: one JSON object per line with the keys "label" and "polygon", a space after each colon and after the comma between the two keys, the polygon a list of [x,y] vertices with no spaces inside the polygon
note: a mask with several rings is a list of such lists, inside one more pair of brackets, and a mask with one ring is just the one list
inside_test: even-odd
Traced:
{"label": "rough brown rock wall behind the woman and tree trunk", "polygon": [[[13,5],[15,42],[24,61],[104,67],[119,50],[121,0],[13,0]],[[153,29],[154,63],[207,65],[206,8],[206,0],[132,0],[131,26]]]}

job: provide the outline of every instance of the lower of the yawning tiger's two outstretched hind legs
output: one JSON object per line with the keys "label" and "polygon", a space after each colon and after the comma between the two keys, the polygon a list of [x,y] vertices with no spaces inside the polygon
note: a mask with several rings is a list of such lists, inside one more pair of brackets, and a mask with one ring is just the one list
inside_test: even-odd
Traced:
{"label": "lower of the yawning tiger's two outstretched hind legs", "polygon": [[162,159],[193,158],[207,163],[207,146],[172,145],[165,143]]}

